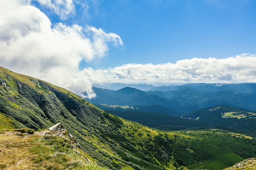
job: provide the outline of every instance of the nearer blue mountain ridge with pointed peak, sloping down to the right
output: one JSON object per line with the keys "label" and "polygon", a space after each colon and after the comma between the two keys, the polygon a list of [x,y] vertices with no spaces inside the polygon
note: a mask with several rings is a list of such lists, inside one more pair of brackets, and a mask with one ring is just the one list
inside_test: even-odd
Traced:
{"label": "nearer blue mountain ridge with pointed peak, sloping down to the right", "polygon": [[200,109],[193,107],[188,103],[181,103],[177,100],[164,99],[158,95],[149,92],[141,91],[136,88],[125,87],[120,90],[107,90],[103,88],[93,87],[96,97],[86,99],[93,104],[109,104],[109,105],[132,105],[132,106],[145,106],[145,105],[162,105],[177,112],[188,112]]}

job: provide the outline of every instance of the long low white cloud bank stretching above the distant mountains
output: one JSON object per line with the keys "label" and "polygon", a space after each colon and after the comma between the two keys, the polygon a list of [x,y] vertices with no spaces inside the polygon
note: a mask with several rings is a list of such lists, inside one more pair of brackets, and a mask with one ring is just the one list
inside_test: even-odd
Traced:
{"label": "long low white cloud bank stretching above the distant mountains", "polygon": [[[225,59],[192,58],[176,63],[126,64],[107,70],[85,69],[93,82],[256,82],[256,55],[241,54]],[[97,76],[96,76],[97,75]]]}

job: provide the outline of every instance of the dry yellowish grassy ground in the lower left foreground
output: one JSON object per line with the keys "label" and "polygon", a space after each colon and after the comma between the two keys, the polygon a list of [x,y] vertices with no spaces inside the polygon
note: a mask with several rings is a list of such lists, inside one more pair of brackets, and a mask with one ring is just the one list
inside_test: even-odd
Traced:
{"label": "dry yellowish grassy ground in the lower left foreground", "polygon": [[69,143],[59,137],[0,134],[0,168],[105,169],[77,155]]}

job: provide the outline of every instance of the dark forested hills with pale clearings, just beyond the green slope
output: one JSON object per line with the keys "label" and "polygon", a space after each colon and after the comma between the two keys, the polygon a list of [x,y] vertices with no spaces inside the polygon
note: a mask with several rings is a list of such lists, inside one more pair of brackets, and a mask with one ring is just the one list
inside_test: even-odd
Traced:
{"label": "dark forested hills with pale clearings, just beyond the green slope", "polygon": [[102,109],[116,116],[160,130],[212,127],[232,129],[238,133],[246,133],[256,137],[255,111],[246,111],[228,105],[217,105],[178,117],[168,115],[168,109],[161,106],[159,106],[159,110],[157,110],[157,106],[158,105],[131,107],[106,104],[99,105]]}

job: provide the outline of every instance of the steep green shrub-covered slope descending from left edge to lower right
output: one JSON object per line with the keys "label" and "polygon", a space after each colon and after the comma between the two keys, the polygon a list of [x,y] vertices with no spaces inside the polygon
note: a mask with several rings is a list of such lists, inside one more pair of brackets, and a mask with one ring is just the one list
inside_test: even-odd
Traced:
{"label": "steep green shrub-covered slope descending from left edge to lower right", "polygon": [[217,129],[154,130],[102,111],[63,88],[2,67],[0,120],[2,133],[14,128],[42,130],[62,122],[84,156],[109,169],[223,169],[256,157],[254,138]]}

